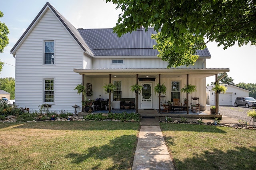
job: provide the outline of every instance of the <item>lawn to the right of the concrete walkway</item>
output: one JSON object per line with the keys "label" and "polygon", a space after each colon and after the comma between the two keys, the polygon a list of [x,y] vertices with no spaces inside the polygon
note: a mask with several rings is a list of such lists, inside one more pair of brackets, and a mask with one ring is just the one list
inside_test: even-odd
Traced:
{"label": "lawn to the right of the concrete walkway", "polygon": [[255,169],[256,131],[160,123],[178,170]]}

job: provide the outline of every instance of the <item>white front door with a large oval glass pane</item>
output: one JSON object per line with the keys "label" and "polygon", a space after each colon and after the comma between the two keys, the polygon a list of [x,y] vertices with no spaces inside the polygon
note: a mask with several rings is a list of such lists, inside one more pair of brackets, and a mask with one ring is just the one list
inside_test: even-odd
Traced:
{"label": "white front door with a large oval glass pane", "polygon": [[142,82],[141,108],[152,108],[152,83]]}

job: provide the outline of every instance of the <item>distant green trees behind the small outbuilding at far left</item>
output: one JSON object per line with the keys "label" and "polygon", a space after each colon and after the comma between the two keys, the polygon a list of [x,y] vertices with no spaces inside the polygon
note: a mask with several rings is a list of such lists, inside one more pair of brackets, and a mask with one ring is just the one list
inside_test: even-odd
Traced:
{"label": "distant green trees behind the small outbuilding at far left", "polygon": [[10,93],[10,99],[15,98],[15,79],[12,77],[0,78],[0,89]]}

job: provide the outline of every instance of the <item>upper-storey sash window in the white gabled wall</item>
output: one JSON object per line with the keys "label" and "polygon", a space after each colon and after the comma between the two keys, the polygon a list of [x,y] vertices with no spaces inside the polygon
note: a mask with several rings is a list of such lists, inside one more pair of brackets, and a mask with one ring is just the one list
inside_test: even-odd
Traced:
{"label": "upper-storey sash window in the white gabled wall", "polygon": [[44,64],[54,64],[54,41],[44,41]]}

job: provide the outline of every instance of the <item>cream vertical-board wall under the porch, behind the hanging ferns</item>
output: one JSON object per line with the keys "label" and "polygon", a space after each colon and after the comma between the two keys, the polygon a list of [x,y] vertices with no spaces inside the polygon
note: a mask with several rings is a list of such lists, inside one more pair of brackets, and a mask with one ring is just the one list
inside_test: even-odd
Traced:
{"label": "cream vertical-board wall under the porch, behind the hanging ferns", "polygon": [[[109,94],[107,94],[103,88],[105,84],[109,83],[108,78],[84,78],[85,84],[87,82],[92,84],[92,91],[93,96],[86,96],[89,99],[95,100],[96,98],[99,98],[101,95],[102,98],[108,99]],[[113,81],[122,81],[122,98],[135,98],[135,92],[132,92],[130,89],[130,86],[133,84],[136,84],[136,78],[112,78],[111,82]],[[180,81],[180,89],[184,87],[184,84],[186,84],[186,78],[161,78],[161,84],[164,83],[166,86],[166,102],[168,100],[171,100],[171,82],[172,81]],[[205,83],[206,78],[189,78],[188,82],[192,85],[196,85],[196,92],[192,92],[192,94],[188,94],[188,105],[190,106],[191,98],[192,97],[199,97],[199,104],[202,106],[206,106],[206,90],[205,90]],[[138,82],[140,85],[142,82]],[[158,78],[155,79],[154,82],[152,82],[152,88],[158,84]],[[152,96],[153,96],[153,108],[158,109],[158,94],[152,90]],[[141,95],[138,93],[138,107],[140,108],[140,97]],[[180,92],[180,102],[184,104],[183,99],[186,98],[186,93]],[[111,100],[113,101],[113,95],[111,96]]]}

